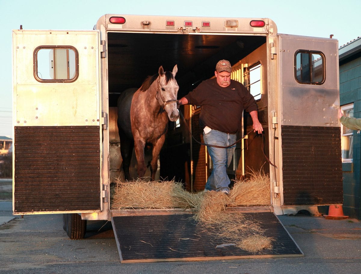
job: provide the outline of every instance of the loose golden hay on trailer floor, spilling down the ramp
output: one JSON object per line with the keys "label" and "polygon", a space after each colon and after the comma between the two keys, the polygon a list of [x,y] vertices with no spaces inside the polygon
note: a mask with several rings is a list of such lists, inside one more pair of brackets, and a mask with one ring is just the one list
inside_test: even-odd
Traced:
{"label": "loose golden hay on trailer floor, spilling down the ramp", "polygon": [[228,206],[270,205],[268,175],[252,172],[245,181],[236,180],[230,195],[209,191],[189,193],[174,181],[118,181],[112,210],[194,208],[199,228],[215,238],[256,253],[272,248],[274,239],[264,236],[260,224],[241,213],[226,211]]}

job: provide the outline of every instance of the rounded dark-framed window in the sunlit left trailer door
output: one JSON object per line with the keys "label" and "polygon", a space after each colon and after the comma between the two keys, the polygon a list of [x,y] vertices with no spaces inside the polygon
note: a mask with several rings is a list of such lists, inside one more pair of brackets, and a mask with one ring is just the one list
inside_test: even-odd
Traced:
{"label": "rounded dark-framed window in the sunlit left trailer door", "polygon": [[71,46],[41,46],[34,51],[34,77],[39,82],[74,82],[78,51]]}

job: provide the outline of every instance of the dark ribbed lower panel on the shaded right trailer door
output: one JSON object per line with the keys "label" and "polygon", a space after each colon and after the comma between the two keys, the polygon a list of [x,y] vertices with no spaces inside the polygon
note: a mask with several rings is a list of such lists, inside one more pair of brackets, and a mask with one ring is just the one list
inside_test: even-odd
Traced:
{"label": "dark ribbed lower panel on the shaded right trailer door", "polygon": [[284,205],[342,204],[339,127],[282,126]]}

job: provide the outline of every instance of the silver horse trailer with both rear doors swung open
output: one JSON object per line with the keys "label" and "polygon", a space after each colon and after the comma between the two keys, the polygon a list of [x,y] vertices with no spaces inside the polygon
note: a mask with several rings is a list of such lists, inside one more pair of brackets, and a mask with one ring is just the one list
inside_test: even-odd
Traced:
{"label": "silver horse trailer with both rear doors swung open", "polygon": [[[152,223],[168,223],[169,216],[182,212],[111,209],[110,184],[123,176],[117,98],[140,87],[160,66],[171,71],[177,65],[179,99],[214,77],[221,59],[230,61],[232,79],[255,97],[264,128],[263,134],[253,133],[244,113],[238,133],[244,138],[229,176],[261,171],[270,178],[270,206],[238,210],[279,224],[280,214],[319,214],[318,206],[342,204],[336,39],[279,34],[268,18],[119,14],[100,17],[93,30],[21,27],[12,35],[14,215],[64,214],[71,239],[84,237],[87,220],[112,219],[121,260],[147,261],[126,257],[120,242],[131,236],[117,236],[119,226],[152,231]],[[174,178],[185,189],[200,191],[212,169],[206,147],[198,143],[201,109],[186,105],[179,111],[185,120],[168,124],[157,178]],[[229,256],[183,254],[149,260]],[[294,251],[269,256],[280,254],[295,256]]]}

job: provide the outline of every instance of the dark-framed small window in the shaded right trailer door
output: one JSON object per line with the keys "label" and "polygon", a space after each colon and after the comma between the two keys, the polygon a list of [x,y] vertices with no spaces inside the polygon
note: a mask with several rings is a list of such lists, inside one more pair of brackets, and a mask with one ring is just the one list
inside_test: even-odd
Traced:
{"label": "dark-framed small window in the shaded right trailer door", "polygon": [[323,53],[296,51],[295,78],[300,84],[322,85],[325,82],[325,56]]}

